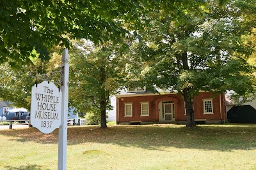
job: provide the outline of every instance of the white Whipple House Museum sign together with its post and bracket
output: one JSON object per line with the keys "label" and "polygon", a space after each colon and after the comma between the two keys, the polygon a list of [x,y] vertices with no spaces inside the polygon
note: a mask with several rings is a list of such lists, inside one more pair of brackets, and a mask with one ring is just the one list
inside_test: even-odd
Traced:
{"label": "white Whipple House Museum sign together with its post and bracket", "polygon": [[[42,83],[35,84],[31,90],[31,125],[47,134],[59,128],[58,170],[67,169],[67,117],[68,117],[68,49],[63,50],[61,58],[61,88],[49,81],[51,76],[42,74]],[[32,75],[31,75],[32,76]],[[32,76],[33,78],[37,78]]]}

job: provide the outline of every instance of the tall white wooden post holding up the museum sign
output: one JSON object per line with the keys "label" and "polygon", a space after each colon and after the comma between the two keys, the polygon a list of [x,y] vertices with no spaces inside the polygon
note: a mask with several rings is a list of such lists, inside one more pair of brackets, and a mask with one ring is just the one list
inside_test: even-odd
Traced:
{"label": "tall white wooden post holding up the museum sign", "polygon": [[68,117],[68,49],[63,50],[61,58],[62,73],[62,103],[61,103],[61,125],[59,128],[59,152],[58,152],[58,170],[67,169],[67,117]]}

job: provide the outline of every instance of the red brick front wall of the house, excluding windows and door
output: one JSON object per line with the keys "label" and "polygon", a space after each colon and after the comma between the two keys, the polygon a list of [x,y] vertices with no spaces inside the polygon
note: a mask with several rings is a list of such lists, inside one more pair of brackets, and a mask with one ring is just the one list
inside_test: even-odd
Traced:
{"label": "red brick front wall of the house, excluding windows and door", "polygon": [[[221,96],[221,107],[220,107]],[[203,99],[213,99],[214,114],[204,114]],[[159,103],[161,101],[173,101],[175,108],[175,121],[186,121],[184,99],[179,94],[164,94],[152,96],[122,96],[116,98],[116,122],[159,122]],[[141,116],[141,102],[148,102],[149,116]],[[132,103],[132,117],[124,117],[125,103]],[[221,109],[221,111],[220,111]],[[201,92],[194,99],[195,119],[225,120],[225,96],[224,94],[215,97],[211,92]]]}

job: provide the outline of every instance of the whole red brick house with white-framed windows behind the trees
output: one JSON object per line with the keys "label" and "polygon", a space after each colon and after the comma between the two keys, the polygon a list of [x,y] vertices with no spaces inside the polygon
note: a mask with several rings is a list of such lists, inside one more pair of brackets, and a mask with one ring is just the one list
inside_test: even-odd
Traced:
{"label": "whole red brick house with white-framed windows behind the trees", "polygon": [[[200,92],[193,108],[196,123],[218,124],[226,120],[225,94],[212,97],[211,92]],[[134,89],[116,96],[117,124],[168,122],[186,124],[185,103],[180,94],[152,94]]]}

